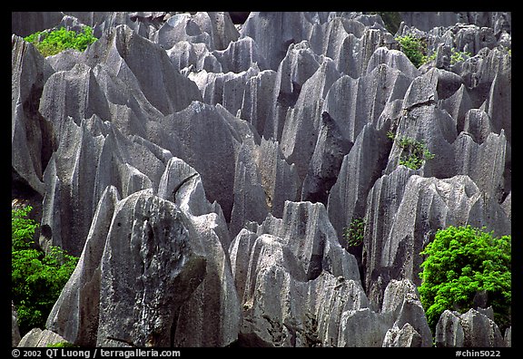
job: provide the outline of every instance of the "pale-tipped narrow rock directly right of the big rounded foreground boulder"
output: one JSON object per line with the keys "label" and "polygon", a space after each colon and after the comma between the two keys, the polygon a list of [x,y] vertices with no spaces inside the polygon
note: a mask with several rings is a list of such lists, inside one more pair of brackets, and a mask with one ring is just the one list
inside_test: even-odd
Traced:
{"label": "pale-tipped narrow rock directly right of the big rounded foreground boulder", "polygon": [[[227,224],[222,213],[189,218],[191,238],[202,242],[206,267],[202,283],[176,314],[171,346],[227,346],[238,339],[241,323],[240,302],[228,257],[231,239]],[[190,283],[195,281],[193,275],[187,279]]]}

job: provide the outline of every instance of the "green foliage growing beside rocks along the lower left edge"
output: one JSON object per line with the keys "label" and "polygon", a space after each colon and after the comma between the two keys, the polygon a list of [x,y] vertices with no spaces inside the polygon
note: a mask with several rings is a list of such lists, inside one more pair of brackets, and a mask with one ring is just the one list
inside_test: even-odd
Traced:
{"label": "green foliage growing beside rocks along the lower left edge", "polygon": [[47,255],[36,247],[33,237],[38,225],[26,218],[31,209],[11,212],[12,295],[21,335],[44,327],[78,262],[60,247],[51,247]]}

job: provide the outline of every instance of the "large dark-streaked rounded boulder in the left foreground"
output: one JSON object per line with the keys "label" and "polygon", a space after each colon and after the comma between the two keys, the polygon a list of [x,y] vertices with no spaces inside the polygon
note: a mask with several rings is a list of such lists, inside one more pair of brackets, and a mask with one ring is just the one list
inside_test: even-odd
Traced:
{"label": "large dark-streaked rounded boulder in the left foreground", "polygon": [[101,258],[97,345],[172,344],[177,312],[206,271],[201,239],[185,223],[152,190],[118,202]]}

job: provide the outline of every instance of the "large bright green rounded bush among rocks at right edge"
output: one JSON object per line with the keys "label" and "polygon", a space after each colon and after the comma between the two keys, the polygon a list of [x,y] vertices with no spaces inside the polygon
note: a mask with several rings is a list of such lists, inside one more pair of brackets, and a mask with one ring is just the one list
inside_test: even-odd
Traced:
{"label": "large bright green rounded bush among rocks at right edge", "polygon": [[487,296],[501,330],[510,325],[511,236],[494,238],[493,232],[470,226],[440,229],[420,253],[427,256],[419,298],[434,331],[446,310],[467,312],[478,294]]}

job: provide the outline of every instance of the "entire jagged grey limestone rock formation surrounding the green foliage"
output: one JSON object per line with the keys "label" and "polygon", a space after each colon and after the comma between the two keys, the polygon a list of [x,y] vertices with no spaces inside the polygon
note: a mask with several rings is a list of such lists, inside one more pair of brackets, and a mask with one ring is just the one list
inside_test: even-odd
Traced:
{"label": "entire jagged grey limestone rock formation surrounding the green foliage", "polygon": [[[511,15],[400,15],[432,62],[363,13],[13,13],[13,193],[80,257],[47,332],[430,346],[419,252],[449,225],[510,234]],[[98,40],[44,58],[20,37],[61,25]],[[391,133],[434,158],[400,165]],[[436,343],[510,345],[477,309]]]}

